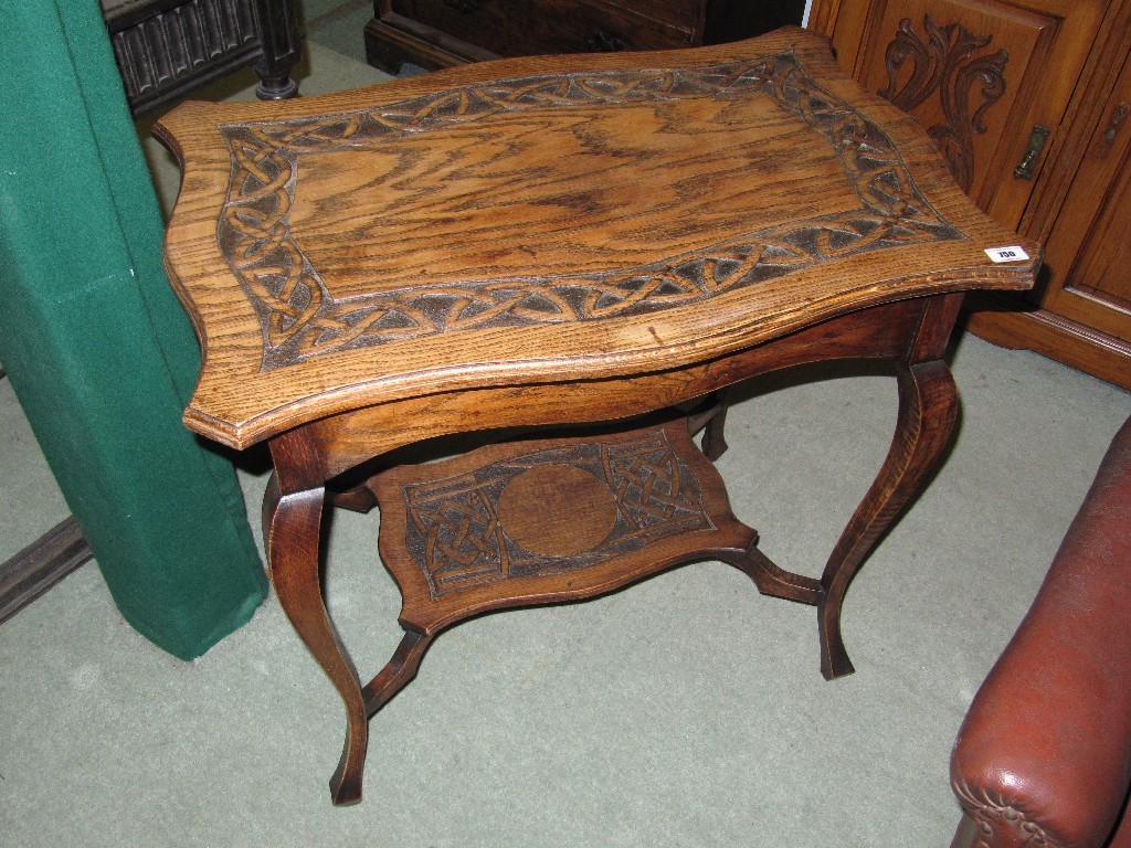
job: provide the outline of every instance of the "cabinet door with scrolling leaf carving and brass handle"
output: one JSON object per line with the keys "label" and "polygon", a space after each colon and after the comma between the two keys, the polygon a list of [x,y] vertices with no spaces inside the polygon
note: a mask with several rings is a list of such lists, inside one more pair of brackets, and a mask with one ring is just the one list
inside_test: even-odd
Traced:
{"label": "cabinet door with scrolling leaf carving and brass handle", "polygon": [[1106,0],[814,0],[840,66],[914,115],[959,185],[1017,226]]}

